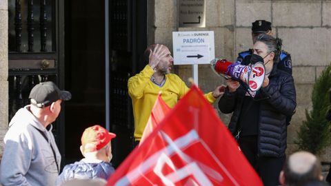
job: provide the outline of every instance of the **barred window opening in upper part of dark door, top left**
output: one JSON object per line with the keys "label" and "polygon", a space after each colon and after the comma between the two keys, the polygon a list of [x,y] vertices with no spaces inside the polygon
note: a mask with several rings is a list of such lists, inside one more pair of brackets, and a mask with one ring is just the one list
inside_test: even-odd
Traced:
{"label": "barred window opening in upper part of dark door, top left", "polygon": [[8,0],[9,52],[52,52],[54,0]]}

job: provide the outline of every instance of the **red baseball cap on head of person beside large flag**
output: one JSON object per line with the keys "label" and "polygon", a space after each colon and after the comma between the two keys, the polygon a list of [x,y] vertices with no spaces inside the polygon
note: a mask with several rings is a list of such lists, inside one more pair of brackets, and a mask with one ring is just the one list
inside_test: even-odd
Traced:
{"label": "red baseball cap on head of person beside large flag", "polygon": [[108,132],[100,125],[94,125],[84,130],[81,136],[81,145],[84,152],[94,152],[105,147],[116,134]]}

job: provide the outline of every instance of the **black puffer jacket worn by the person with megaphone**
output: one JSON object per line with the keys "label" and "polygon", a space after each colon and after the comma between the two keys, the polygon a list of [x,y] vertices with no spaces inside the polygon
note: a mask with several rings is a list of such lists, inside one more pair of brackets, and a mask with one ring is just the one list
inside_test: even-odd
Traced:
{"label": "black puffer jacket worn by the person with megaphone", "polygon": [[[281,157],[286,149],[286,116],[291,116],[297,106],[294,80],[292,76],[277,70],[276,64],[269,76],[269,85],[261,88],[258,148],[259,156]],[[245,96],[241,85],[236,92],[228,92],[219,101],[219,109],[225,114],[233,112],[229,124],[232,134],[237,133],[238,118]]]}

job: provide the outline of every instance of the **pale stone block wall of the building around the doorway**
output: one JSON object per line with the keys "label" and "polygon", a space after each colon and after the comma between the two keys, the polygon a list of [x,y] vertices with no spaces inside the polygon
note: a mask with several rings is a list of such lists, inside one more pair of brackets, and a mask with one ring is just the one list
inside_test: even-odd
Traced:
{"label": "pale stone block wall of the building around the doorway", "polygon": [[[252,48],[251,23],[272,22],[274,35],[283,39],[283,49],[292,56],[297,88],[297,112],[288,127],[288,152],[295,149],[297,130],[310,110],[314,81],[331,62],[331,0],[205,0],[205,28],[178,28],[179,0],[150,0],[148,43],[163,43],[172,51],[172,31],[213,30],[215,55],[233,61],[238,52]],[[183,80],[192,76],[190,65],[174,70]],[[8,1],[0,1],[0,158],[2,139],[8,129]],[[209,65],[199,65],[199,86],[213,90],[225,81]],[[216,105],[215,105],[216,108]],[[224,123],[230,115],[220,114]],[[321,156],[331,161],[330,151]]]}

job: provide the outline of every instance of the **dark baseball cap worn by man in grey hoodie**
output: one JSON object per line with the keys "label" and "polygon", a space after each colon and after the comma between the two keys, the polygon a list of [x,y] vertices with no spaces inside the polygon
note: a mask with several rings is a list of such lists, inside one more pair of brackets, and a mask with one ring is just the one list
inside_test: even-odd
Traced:
{"label": "dark baseball cap worn by man in grey hoodie", "polygon": [[59,87],[52,81],[47,81],[35,85],[30,92],[29,99],[32,105],[42,108],[59,99],[68,101],[71,99],[71,94],[68,91],[59,90]]}

